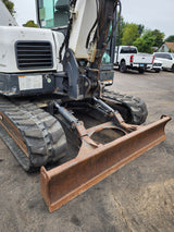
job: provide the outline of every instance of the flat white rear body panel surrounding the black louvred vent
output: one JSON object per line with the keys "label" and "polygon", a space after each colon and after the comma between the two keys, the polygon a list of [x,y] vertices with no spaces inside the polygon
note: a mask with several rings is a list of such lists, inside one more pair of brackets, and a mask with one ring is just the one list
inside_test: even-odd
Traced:
{"label": "flat white rear body panel surrounding the black louvred vent", "polygon": [[[24,73],[24,72],[37,72],[37,71],[48,71],[48,70],[57,70],[57,56],[55,56],[55,45],[54,39],[52,36],[52,32],[50,29],[40,29],[40,28],[26,28],[26,27],[10,27],[10,26],[0,26],[0,72],[2,73]],[[52,61],[53,65],[52,68],[48,69],[42,68],[42,61],[37,60],[40,62],[40,69],[29,69],[29,70],[20,70],[17,68],[17,60],[16,60],[16,52],[15,52],[15,45],[17,41],[30,41],[30,42],[42,42],[47,41],[51,44],[52,48]],[[44,50],[45,47],[42,47]],[[33,57],[36,57],[36,52],[38,50],[37,46],[36,48],[33,48],[30,51],[28,48],[26,49],[25,45],[23,46],[23,54],[25,59],[27,56],[32,54]],[[29,51],[28,51],[29,50]],[[44,53],[47,56],[47,50]],[[42,57],[42,59],[45,59]],[[29,61],[30,62],[30,61]],[[35,62],[35,61],[34,61]],[[34,63],[35,64],[35,63]],[[35,65],[34,65],[35,66]]]}

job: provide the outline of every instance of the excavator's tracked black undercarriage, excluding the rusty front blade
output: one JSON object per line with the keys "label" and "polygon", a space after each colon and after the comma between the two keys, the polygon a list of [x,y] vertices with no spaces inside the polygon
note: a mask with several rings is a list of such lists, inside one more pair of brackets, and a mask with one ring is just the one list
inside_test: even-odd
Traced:
{"label": "excavator's tracked black undercarriage, excluding the rusty front blade", "polygon": [[[79,146],[80,141],[78,133],[74,131],[75,123],[79,121],[83,121],[87,129],[105,123],[111,119],[109,110],[119,110],[127,123],[141,124],[146,120],[146,105],[138,98],[105,90],[102,100],[67,101],[55,96],[28,97],[23,100],[1,96],[0,124],[3,134],[7,131],[15,143],[10,138],[7,141],[7,136],[2,138],[4,137],[4,142],[23,168],[26,171],[34,171],[41,166],[62,163],[75,157],[75,152],[73,156],[67,152],[67,144],[69,146],[75,144],[72,143],[73,139],[69,139],[71,134],[76,141],[74,150],[77,152],[76,147]],[[110,132],[108,139],[109,137],[114,139],[113,134]]]}

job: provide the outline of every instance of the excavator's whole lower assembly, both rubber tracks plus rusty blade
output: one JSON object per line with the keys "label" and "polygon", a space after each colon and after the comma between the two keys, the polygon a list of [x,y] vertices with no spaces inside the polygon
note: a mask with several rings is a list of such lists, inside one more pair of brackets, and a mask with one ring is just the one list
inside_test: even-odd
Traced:
{"label": "excavator's whole lower assembly, both rubber tracks plus rusty blade", "polygon": [[139,98],[109,90],[80,101],[1,96],[0,136],[26,171],[41,167],[41,195],[53,211],[165,139],[170,118],[138,125],[146,118]]}

